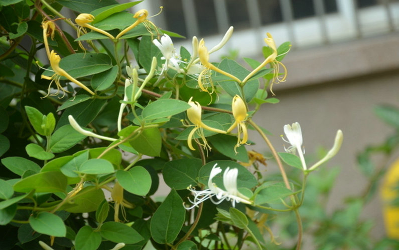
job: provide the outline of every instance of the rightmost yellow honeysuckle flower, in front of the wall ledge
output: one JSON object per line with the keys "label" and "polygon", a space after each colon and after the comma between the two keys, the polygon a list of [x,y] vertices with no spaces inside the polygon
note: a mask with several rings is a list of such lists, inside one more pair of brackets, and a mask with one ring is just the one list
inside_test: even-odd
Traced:
{"label": "rightmost yellow honeysuckle flower, in front of the wall ledge", "polygon": [[[276,42],[273,39],[273,36],[268,32],[267,33],[267,38],[264,38],[264,42],[266,42],[266,44],[268,44],[268,46],[273,50],[273,53],[271,55],[269,55],[262,63],[260,63],[259,66],[257,66],[255,69],[253,69],[243,80],[242,82],[246,82],[250,77],[252,77],[257,71],[259,71],[260,69],[262,69],[264,66],[266,66],[268,63],[272,64],[272,67],[274,68],[273,71],[273,79],[272,82],[270,84],[270,91],[273,93],[273,95],[275,94],[273,92],[273,83],[280,83],[283,81],[286,81],[287,78],[287,68],[286,66],[281,62],[278,61],[277,58],[277,46],[276,46]],[[279,76],[279,72],[280,72],[280,66],[283,67],[284,72],[283,75]]]}

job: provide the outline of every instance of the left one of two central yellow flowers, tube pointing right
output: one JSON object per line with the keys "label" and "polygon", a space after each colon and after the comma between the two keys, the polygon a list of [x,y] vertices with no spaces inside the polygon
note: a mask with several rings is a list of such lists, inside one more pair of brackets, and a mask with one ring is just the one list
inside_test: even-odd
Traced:
{"label": "left one of two central yellow flowers, tube pointing right", "polygon": [[194,128],[190,131],[188,138],[187,138],[188,147],[191,150],[195,150],[195,148],[193,147],[193,144],[192,144],[192,139],[193,139],[194,134],[197,133],[201,137],[203,142],[201,143],[198,139],[194,139],[194,140],[196,142],[198,142],[200,145],[202,145],[205,149],[207,149],[207,150],[211,149],[208,142],[206,141],[203,129],[207,129],[207,130],[217,132],[217,133],[226,133],[226,131],[210,127],[210,126],[206,125],[204,122],[202,122],[202,120],[201,120],[201,113],[202,113],[201,105],[198,103],[198,101],[192,101],[192,99],[193,99],[193,97],[191,97],[188,100],[188,104],[190,104],[191,107],[189,109],[187,109],[187,117],[194,124]]}

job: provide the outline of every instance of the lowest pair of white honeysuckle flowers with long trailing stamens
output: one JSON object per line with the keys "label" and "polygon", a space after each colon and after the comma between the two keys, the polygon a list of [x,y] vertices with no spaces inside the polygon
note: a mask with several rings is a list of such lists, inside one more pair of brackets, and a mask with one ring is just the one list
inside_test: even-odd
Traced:
{"label": "lowest pair of white honeysuckle flowers with long trailing stamens", "polygon": [[[193,205],[190,207],[186,207],[186,209],[191,209],[207,199],[210,199],[214,204],[219,204],[223,200],[231,201],[233,207],[235,206],[235,203],[239,202],[245,204],[252,203],[252,201],[250,201],[248,197],[240,193],[237,189],[237,168],[230,169],[230,167],[227,167],[226,170],[224,170],[223,185],[226,190],[221,189],[212,182],[212,179],[221,171],[222,169],[217,166],[217,163],[213,165],[211,173],[209,174],[208,189],[197,191],[191,185],[187,188],[193,192],[194,199],[189,199]],[[215,200],[214,197],[216,197],[217,200]]]}

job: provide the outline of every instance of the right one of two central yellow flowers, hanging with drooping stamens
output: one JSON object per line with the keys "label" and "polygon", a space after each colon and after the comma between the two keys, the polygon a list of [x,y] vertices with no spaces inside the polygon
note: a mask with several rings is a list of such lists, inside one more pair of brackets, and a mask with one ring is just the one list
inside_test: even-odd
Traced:
{"label": "right one of two central yellow flowers, hanging with drooping stamens", "polygon": [[[231,103],[233,110],[234,123],[227,129],[227,132],[231,132],[235,127],[237,127],[237,144],[234,146],[234,152],[237,153],[236,148],[242,144],[245,144],[248,140],[248,131],[246,129],[245,120],[248,114],[246,113],[246,105],[242,98],[236,94],[233,97],[233,102]],[[242,133],[242,139],[241,139]]]}

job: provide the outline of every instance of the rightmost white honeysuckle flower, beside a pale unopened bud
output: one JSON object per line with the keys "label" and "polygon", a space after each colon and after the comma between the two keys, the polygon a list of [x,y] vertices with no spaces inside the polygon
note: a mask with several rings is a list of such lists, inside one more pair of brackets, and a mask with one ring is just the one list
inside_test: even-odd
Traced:
{"label": "rightmost white honeysuckle flower, beside a pale unopened bud", "polygon": [[301,130],[301,125],[298,122],[284,125],[284,133],[287,136],[287,139],[284,139],[284,141],[288,142],[291,144],[290,147],[284,149],[287,152],[295,152],[295,150],[298,151],[299,158],[301,159],[302,167],[304,170],[307,170],[306,167],[306,162],[305,162],[305,157],[304,157],[304,152],[302,151],[302,130]]}

